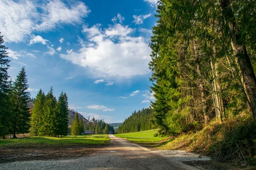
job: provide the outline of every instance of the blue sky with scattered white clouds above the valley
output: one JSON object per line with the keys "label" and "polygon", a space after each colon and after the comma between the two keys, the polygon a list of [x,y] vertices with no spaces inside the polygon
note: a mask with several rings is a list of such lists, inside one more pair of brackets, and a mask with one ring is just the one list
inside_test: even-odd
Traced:
{"label": "blue sky with scattered white clouds above the valley", "polygon": [[9,76],[52,86],[84,117],[123,122],[154,100],[148,47],[157,0],[0,0]]}

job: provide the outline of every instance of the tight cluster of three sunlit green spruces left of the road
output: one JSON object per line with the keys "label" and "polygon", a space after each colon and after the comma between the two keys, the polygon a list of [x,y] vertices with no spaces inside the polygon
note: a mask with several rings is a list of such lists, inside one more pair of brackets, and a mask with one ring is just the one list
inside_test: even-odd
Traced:
{"label": "tight cluster of three sunlit green spruces left of the road", "polygon": [[58,100],[51,87],[47,95],[39,90],[31,113],[29,135],[65,136],[68,133],[67,94],[61,92]]}

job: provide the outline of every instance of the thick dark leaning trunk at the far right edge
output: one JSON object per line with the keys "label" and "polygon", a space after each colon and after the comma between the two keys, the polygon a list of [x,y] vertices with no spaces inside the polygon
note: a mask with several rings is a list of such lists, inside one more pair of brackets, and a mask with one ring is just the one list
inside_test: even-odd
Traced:
{"label": "thick dark leaning trunk at the far right edge", "polygon": [[239,68],[239,75],[246,94],[249,108],[251,108],[252,115],[256,119],[256,77],[253,67],[248,56],[244,40],[241,38],[241,33],[237,26],[233,10],[230,6],[229,0],[220,0],[220,5],[223,11],[226,22],[230,27],[231,46]]}

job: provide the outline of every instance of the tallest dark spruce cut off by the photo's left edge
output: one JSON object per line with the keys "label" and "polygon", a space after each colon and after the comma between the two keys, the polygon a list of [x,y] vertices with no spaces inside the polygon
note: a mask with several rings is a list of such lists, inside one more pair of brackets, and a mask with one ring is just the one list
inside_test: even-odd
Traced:
{"label": "tallest dark spruce cut off by the photo's left edge", "polygon": [[10,105],[9,105],[9,82],[8,68],[10,67],[6,46],[3,45],[3,36],[0,33],[0,136],[7,133],[7,128],[10,121]]}

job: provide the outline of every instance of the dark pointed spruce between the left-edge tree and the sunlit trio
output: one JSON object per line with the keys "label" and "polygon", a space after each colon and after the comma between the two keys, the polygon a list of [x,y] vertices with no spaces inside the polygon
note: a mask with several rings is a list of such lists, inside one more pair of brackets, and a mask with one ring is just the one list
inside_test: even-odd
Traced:
{"label": "dark pointed spruce between the left-edge tree and the sunlit trio", "polygon": [[12,131],[13,138],[16,133],[27,133],[29,130],[29,107],[27,105],[30,93],[26,90],[29,88],[27,84],[26,71],[23,67],[17,75],[12,89]]}

